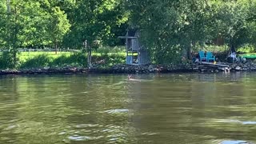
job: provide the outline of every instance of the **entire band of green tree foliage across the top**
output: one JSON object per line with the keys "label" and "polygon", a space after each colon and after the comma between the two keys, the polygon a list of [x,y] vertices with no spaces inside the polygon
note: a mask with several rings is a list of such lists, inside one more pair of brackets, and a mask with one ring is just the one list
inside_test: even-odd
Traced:
{"label": "entire band of green tree foliage across the top", "polygon": [[[125,35],[128,26],[140,30],[140,41],[156,63],[179,62],[201,47],[225,52],[234,45],[249,52],[253,48],[248,46],[256,46],[256,0],[2,0],[0,16],[0,48],[10,50],[2,65],[9,67],[25,62],[18,60],[18,49],[23,47],[82,49],[86,40],[87,50],[109,57],[123,53],[121,48],[102,45],[123,44],[118,36]],[[214,46],[215,38],[224,38],[225,49]],[[58,58],[56,65],[77,65],[75,58],[69,58]]]}

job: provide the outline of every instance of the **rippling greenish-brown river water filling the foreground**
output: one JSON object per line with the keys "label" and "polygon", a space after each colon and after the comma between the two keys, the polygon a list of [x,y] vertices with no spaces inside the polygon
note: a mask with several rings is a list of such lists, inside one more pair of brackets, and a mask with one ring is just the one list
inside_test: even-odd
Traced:
{"label": "rippling greenish-brown river water filling the foreground", "polygon": [[1,144],[255,143],[256,74],[0,77]]}

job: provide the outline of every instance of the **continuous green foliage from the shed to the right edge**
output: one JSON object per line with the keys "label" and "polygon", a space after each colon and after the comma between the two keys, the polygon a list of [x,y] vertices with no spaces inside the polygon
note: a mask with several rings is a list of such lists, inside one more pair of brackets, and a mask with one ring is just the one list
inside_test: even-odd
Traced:
{"label": "continuous green foliage from the shed to the right edge", "polygon": [[254,45],[255,7],[255,0],[126,1],[131,23],[157,63],[174,62],[219,36],[227,47]]}

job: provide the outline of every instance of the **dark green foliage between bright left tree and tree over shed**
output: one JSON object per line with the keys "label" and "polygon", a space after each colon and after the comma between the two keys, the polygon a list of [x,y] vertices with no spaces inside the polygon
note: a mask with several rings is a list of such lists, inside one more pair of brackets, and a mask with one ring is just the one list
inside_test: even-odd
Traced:
{"label": "dark green foliage between bright left tree and tree over shed", "polygon": [[77,1],[68,16],[72,26],[64,45],[72,48],[82,47],[85,40],[90,47],[95,40],[104,44],[114,36],[113,28],[122,26],[128,19],[122,0]]}

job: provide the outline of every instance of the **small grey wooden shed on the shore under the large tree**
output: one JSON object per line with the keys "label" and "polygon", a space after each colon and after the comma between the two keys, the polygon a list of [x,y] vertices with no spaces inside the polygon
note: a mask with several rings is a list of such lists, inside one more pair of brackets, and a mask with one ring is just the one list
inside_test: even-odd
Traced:
{"label": "small grey wooden shed on the shore under the large tree", "polygon": [[139,30],[129,29],[126,36],[120,36],[118,38],[126,39],[126,64],[142,66],[150,64],[150,54],[146,50],[145,46],[142,46],[139,41]]}

